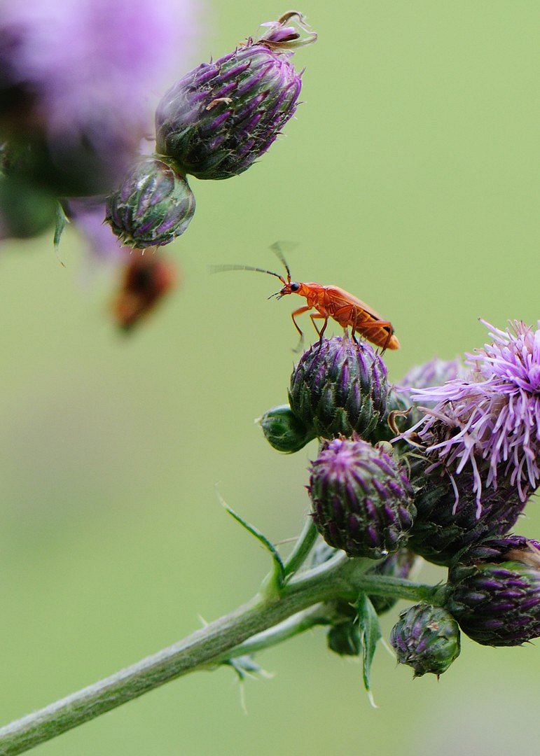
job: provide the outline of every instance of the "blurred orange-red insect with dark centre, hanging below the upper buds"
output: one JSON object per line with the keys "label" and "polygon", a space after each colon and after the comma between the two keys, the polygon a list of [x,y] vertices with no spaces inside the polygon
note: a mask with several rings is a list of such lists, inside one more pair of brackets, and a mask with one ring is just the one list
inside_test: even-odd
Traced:
{"label": "blurred orange-red insect with dark centre, hanging below the upper buds", "polygon": [[114,319],[125,331],[141,321],[174,287],[176,268],[161,255],[134,252],[123,267],[113,303]]}

